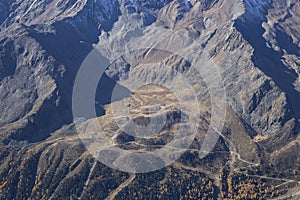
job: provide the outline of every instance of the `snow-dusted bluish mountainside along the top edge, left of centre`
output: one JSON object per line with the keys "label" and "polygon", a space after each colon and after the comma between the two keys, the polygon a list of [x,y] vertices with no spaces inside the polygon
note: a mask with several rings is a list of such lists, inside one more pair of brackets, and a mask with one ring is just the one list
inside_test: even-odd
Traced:
{"label": "snow-dusted bluish mountainside along the top edge, left of centre", "polygon": [[[13,23],[48,24],[74,17],[82,22],[86,22],[89,18],[97,23],[106,23],[110,19],[116,18],[118,3],[118,0],[20,1],[11,3],[10,7],[14,7],[14,9],[11,9],[5,26]],[[78,18],[78,16],[80,17]]]}

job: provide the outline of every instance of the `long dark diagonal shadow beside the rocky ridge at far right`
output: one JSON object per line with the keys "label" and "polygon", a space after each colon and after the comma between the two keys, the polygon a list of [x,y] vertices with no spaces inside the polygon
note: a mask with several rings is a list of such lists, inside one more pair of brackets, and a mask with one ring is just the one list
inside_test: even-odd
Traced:
{"label": "long dark diagonal shadow beside the rocky ridge at far right", "polygon": [[[287,94],[289,105],[291,105],[292,116],[300,118],[300,93],[295,89],[293,83],[298,79],[295,71],[289,69],[282,63],[282,52],[274,51],[266,46],[266,40],[263,38],[262,22],[247,24],[244,18],[239,18],[235,22],[236,29],[243,34],[243,37],[254,48],[253,63],[267,76],[271,77],[276,85]],[[278,39],[286,39],[286,35],[279,34]],[[295,48],[287,41],[279,41],[282,48],[295,53]],[[299,52],[298,52],[299,53]],[[289,119],[283,119],[285,123]]]}

